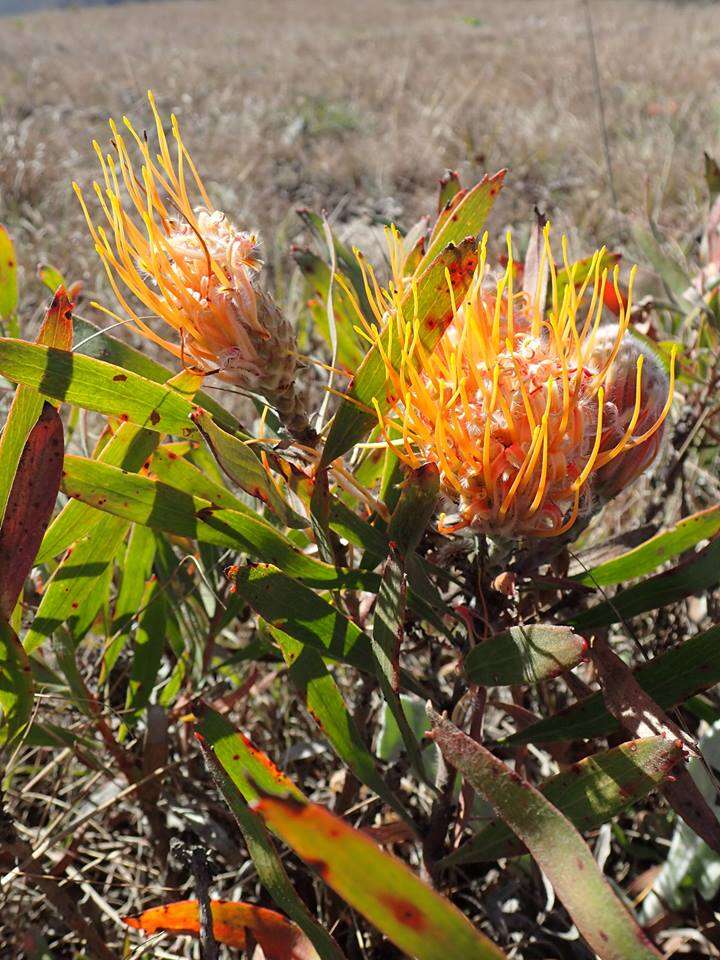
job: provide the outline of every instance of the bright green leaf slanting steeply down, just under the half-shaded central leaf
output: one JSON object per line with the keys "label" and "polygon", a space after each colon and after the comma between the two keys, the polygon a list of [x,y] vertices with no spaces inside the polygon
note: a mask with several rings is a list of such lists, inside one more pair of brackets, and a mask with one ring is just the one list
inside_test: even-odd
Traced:
{"label": "bright green leaf slanting steeply down, just under the half-shaded central leaf", "polygon": [[413,825],[409,814],[378,772],[322,656],[313,647],[300,643],[282,630],[270,627],[270,633],[282,650],[290,680],[335,753],[361,783]]}

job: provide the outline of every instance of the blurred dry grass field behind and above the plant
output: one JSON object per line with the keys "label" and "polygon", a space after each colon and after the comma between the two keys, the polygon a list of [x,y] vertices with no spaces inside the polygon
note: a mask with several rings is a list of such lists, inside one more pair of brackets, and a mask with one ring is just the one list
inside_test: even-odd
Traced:
{"label": "blurred dry grass field behind and above the plant", "polygon": [[91,141],[107,146],[109,116],[149,125],[148,88],[178,114],[216,205],[260,230],[277,286],[294,269],[297,207],[366,243],[373,224],[432,212],[448,167],[466,182],[509,168],[498,237],[534,205],[577,256],[607,242],[643,259],[634,230],[649,218],[684,250],[699,232],[703,151],[720,143],[715,3],[0,0],[0,11],[0,221],[25,273],[26,321],[44,300],[42,261],[108,298],[71,181],[97,175]]}

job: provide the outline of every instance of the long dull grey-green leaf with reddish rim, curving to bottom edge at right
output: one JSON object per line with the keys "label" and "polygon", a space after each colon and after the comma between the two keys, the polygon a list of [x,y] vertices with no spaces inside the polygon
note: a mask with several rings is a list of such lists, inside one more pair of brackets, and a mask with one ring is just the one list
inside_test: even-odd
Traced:
{"label": "long dull grey-green leaf with reddish rim, curving to bottom edge at right", "polygon": [[602,960],[659,960],[660,954],[605,880],[575,827],[502,760],[430,712],[443,756],[525,843],[578,930]]}

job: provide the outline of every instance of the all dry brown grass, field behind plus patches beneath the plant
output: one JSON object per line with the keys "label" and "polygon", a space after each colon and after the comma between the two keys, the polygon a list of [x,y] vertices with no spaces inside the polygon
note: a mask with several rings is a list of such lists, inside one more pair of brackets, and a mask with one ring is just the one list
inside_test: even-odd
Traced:
{"label": "all dry brown grass, field behind plus patches beneath the plant", "polygon": [[[502,167],[509,175],[489,225],[494,240],[508,227],[523,236],[538,206],[567,232],[578,257],[607,243],[625,262],[640,260],[641,292],[652,289],[634,231],[651,218],[678,256],[692,259],[707,208],[703,151],[720,155],[719,8],[592,0],[591,10],[599,87],[582,0],[177,0],[0,18],[0,222],[22,267],[22,335],[35,332],[47,297],[39,263],[82,280],[88,299],[114,306],[71,183],[87,188],[97,175],[91,141],[107,143],[108,117],[127,114],[138,128],[149,126],[149,88],[164,115],[178,115],[217,206],[260,231],[272,283],[286,294],[298,288],[290,255],[304,239],[298,207],[327,211],[350,241],[367,246],[370,238],[372,254],[377,224],[409,227],[433,211],[447,168],[471,183]],[[87,302],[80,313],[102,320]],[[3,415],[8,399],[5,390]],[[697,502],[692,488],[682,496],[700,509],[707,489]],[[664,519],[678,509],[675,498]],[[707,616],[701,610],[693,623]],[[669,618],[658,632],[667,638],[677,629]],[[308,762],[316,746],[311,726],[288,714],[272,681],[253,687],[252,711],[261,717],[254,735],[327,799],[332,765]],[[42,709],[85,730],[84,718],[53,713],[51,698]],[[219,851],[223,896],[262,898],[200,761],[181,762],[178,750],[162,801],[169,830],[191,824]],[[187,894],[188,884],[177,869],[158,867],[134,799],[112,802],[124,785],[112,770],[79,773],[70,750],[53,756],[47,766],[18,769],[7,785],[23,839],[47,839],[45,868],[67,871],[72,896],[106,932],[115,956],[197,956],[182,939],[142,953],[139,939],[127,935],[120,917],[178,889]],[[102,815],[89,815],[77,842],[66,844],[67,824],[103,804]],[[640,842],[645,817],[641,810],[630,831]],[[608,873],[622,882],[628,869],[620,856]],[[299,882],[311,899],[312,881],[303,875]],[[546,905],[536,877],[493,867],[474,883],[463,909],[509,956],[590,957],[564,939],[566,918]],[[508,907],[517,902],[534,913],[518,915]],[[332,915],[324,901],[323,910]],[[676,927],[694,924],[688,914]],[[720,956],[707,952],[708,941],[699,952],[692,936],[676,941],[683,956]],[[368,952],[360,933],[354,949],[352,960],[399,957],[387,944]],[[16,878],[0,888],[0,960],[84,956],[36,885]]]}

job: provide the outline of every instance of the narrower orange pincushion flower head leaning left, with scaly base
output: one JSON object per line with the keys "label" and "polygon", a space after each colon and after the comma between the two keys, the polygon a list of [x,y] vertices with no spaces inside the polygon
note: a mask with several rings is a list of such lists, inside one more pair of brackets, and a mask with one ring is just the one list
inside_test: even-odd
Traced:
{"label": "narrower orange pincushion flower head leaning left, with scaly base", "polygon": [[[171,117],[171,150],[153,96],[148,96],[157,155],[127,118],[129,143],[110,120],[114,155],[104,156],[93,143],[104,181],[93,184],[104,226],[95,225],[82,191],[73,184],[113,291],[141,334],[184,364],[260,395],[291,433],[308,439],[311,431],[295,387],[294,334],[257,285],[262,267],[258,238],[238,230],[213,206],[177,119]],[[131,147],[140,157],[139,172]],[[151,317],[133,308],[128,292]],[[173,328],[177,341],[162,336],[152,317]]]}

